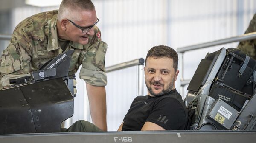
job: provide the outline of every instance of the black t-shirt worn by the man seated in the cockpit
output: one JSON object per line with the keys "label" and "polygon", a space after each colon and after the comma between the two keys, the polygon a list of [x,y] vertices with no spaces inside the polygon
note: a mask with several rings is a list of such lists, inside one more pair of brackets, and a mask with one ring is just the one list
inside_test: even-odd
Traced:
{"label": "black t-shirt worn by the man seated in the cockpit", "polygon": [[124,118],[123,131],[139,131],[145,122],[166,130],[184,130],[188,111],[176,89],[166,95],[137,96]]}

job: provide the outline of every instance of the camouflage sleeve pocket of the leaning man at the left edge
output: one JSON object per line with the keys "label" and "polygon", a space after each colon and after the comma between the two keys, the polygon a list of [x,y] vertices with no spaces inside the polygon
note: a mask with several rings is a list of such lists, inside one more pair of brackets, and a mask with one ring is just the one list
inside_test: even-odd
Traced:
{"label": "camouflage sleeve pocket of the leaning man at the left edge", "polygon": [[2,76],[22,70],[23,62],[18,43],[11,43],[7,49],[3,50],[0,60],[0,72]]}

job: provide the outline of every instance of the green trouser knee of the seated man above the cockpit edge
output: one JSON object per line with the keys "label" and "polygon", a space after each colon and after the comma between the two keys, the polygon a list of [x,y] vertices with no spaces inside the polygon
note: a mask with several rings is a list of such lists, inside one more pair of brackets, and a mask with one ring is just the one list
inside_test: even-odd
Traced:
{"label": "green trouser knee of the seated man above the cockpit edge", "polygon": [[79,120],[76,123],[73,123],[68,129],[61,130],[61,132],[102,132],[103,130],[99,129],[93,123],[88,121]]}

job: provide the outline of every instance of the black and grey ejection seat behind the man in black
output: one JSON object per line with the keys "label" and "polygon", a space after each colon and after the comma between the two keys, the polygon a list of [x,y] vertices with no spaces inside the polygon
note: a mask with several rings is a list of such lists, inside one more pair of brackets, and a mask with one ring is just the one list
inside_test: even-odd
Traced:
{"label": "black and grey ejection seat behind the man in black", "polygon": [[256,130],[256,61],[236,48],[207,53],[188,86],[191,130]]}

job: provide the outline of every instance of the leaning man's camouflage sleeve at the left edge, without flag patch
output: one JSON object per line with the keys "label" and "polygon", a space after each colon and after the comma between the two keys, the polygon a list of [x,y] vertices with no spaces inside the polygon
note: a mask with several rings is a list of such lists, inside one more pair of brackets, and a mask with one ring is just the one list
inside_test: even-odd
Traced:
{"label": "leaning man's camouflage sleeve at the left edge, without flag patch", "polygon": [[0,57],[0,75],[3,87],[9,86],[9,79],[29,75],[30,56],[27,53],[30,41],[21,28],[15,28],[8,47]]}

